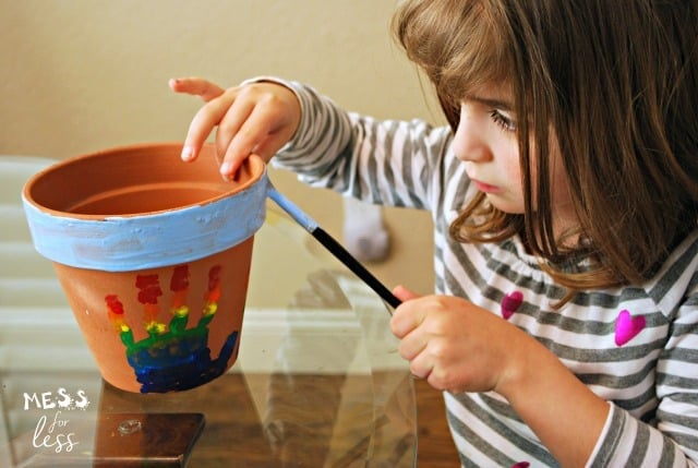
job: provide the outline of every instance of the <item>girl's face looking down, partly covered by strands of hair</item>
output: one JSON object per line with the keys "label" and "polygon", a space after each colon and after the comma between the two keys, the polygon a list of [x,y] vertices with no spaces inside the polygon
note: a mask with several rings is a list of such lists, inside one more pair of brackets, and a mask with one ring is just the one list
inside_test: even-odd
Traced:
{"label": "girl's face looking down, partly covered by strands of hair", "polygon": [[[472,183],[485,193],[493,206],[505,213],[524,214],[517,140],[519,118],[513,109],[512,92],[506,86],[483,87],[466,96],[460,105],[460,122],[453,149],[466,163]],[[551,144],[551,147],[556,146]],[[559,154],[551,155],[551,169],[552,209],[557,225],[555,230],[558,230],[569,227],[575,217]],[[535,187],[537,177],[532,170],[532,187]]]}

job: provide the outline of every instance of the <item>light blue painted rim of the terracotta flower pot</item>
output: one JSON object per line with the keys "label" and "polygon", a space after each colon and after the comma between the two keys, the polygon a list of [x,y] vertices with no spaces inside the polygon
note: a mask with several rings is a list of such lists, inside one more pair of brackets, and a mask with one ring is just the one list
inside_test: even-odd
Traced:
{"label": "light blue painted rim of the terracotta flower pot", "polygon": [[103,220],[49,214],[22,201],[35,249],[79,268],[131,272],[178,265],[230,249],[264,224],[268,178],[231,196],[144,216]]}

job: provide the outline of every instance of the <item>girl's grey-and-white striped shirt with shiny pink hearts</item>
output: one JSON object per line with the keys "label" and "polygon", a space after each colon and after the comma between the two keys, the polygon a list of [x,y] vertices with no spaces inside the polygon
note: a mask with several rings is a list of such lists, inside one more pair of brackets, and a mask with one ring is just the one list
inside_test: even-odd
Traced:
{"label": "girl's grey-and-white striped shirt with shiny pink hearts", "polygon": [[[282,83],[297,93],[302,119],[277,166],[314,187],[431,212],[435,292],[466,298],[525,329],[610,403],[588,466],[696,466],[698,232],[646,284],[579,293],[554,310],[564,290],[519,238],[478,244],[448,236],[474,194],[448,128],[346,112],[310,87]],[[462,466],[557,466],[501,396],[444,398]]]}

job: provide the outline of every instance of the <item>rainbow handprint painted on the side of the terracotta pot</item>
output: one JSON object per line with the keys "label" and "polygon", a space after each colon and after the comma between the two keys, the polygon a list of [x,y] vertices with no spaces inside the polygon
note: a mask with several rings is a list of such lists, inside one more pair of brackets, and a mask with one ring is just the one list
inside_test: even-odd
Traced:
{"label": "rainbow handprint painted on the side of the terracotta pot", "polygon": [[142,325],[147,332],[147,338],[140,341],[134,340],[118,296],[105,297],[109,320],[125,347],[127,359],[141,384],[141,392],[189,389],[207,383],[226,371],[228,360],[236,349],[239,331],[230,333],[215,359],[212,359],[208,347],[208,327],[216,315],[220,298],[220,265],[214,265],[208,271],[204,304],[195,324],[189,323],[189,265],[172,268],[168,324],[158,321],[158,300],[163,296],[159,275],[136,275],[135,288],[139,302],[143,305]]}

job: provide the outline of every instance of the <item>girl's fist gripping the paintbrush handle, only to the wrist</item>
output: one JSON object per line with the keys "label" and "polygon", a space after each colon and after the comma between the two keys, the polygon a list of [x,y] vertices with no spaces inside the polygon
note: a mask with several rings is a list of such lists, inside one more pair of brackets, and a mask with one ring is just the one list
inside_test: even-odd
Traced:
{"label": "girl's fist gripping the paintbrush handle, only to the wrist", "polygon": [[540,352],[533,338],[465,299],[418,298],[401,287],[394,293],[404,301],[390,320],[398,351],[410,361],[412,374],[435,388],[504,395],[530,353]]}

